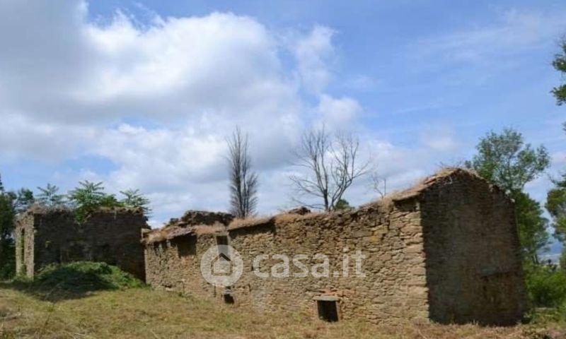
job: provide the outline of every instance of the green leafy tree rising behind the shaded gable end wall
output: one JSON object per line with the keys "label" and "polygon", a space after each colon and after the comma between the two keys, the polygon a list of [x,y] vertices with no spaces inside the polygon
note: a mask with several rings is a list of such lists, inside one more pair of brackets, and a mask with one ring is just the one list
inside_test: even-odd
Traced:
{"label": "green leafy tree rising behind the shaded gable end wall", "polygon": [[466,162],[466,166],[497,184],[514,199],[524,259],[537,264],[537,254],[548,244],[545,230],[548,220],[543,218],[541,205],[524,194],[523,189],[550,165],[546,148],[525,144],[521,133],[513,129],[487,133],[476,148],[478,154]]}

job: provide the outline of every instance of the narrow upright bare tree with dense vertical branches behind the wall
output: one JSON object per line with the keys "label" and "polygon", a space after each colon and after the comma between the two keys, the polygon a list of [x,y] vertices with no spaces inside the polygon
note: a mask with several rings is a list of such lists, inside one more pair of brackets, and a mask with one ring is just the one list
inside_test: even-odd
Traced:
{"label": "narrow upright bare tree with dense vertical branches behind the wall", "polygon": [[258,174],[251,170],[248,154],[248,135],[236,127],[228,144],[230,173],[230,212],[236,218],[247,218],[255,214],[258,206]]}

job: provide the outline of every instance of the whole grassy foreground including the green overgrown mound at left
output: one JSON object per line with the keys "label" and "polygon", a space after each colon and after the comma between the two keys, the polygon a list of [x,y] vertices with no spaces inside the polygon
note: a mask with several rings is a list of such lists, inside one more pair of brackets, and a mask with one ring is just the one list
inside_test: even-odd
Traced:
{"label": "whole grassy foreground including the green overgrown mound at left", "polygon": [[53,266],[33,283],[0,283],[0,339],[565,338],[566,331],[553,321],[506,328],[325,323],[309,314],[258,313],[217,300],[154,291],[131,275],[98,263]]}

